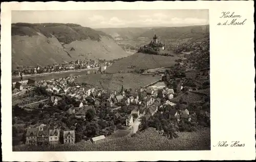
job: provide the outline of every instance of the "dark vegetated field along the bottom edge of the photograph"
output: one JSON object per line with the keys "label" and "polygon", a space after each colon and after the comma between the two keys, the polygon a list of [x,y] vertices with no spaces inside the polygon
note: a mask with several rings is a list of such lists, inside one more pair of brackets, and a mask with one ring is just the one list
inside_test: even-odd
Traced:
{"label": "dark vegetated field along the bottom edge of the photograph", "polygon": [[99,144],[84,143],[74,146],[15,146],[13,151],[167,151],[210,150],[210,129],[181,132],[179,137],[168,140],[153,128],[135,136],[125,136]]}

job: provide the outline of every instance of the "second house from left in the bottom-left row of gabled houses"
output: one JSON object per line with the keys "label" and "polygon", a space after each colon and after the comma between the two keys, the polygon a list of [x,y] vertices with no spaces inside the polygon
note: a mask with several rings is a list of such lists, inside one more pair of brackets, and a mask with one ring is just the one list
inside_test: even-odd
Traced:
{"label": "second house from left in the bottom-left row of gabled houses", "polygon": [[37,145],[49,144],[49,127],[39,126],[37,131]]}

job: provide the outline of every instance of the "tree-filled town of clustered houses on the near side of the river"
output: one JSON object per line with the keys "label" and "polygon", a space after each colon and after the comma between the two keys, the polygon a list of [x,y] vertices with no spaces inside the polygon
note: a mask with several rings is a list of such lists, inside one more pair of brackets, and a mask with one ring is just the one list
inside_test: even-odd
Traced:
{"label": "tree-filled town of clustered houses on the near side of the river", "polygon": [[[75,144],[81,140],[94,144],[104,141],[117,130],[126,129],[131,133],[147,127],[162,130],[159,128],[161,123],[152,122],[152,119],[158,120],[154,115],[156,112],[167,115],[175,130],[195,131],[200,124],[209,125],[209,88],[200,90],[186,84],[167,87],[162,80],[144,88],[126,89],[122,86],[116,91],[77,84],[75,80],[79,77],[29,79],[12,84],[13,122],[26,121],[31,115],[30,125],[35,126],[13,128],[17,134],[23,132],[19,137],[24,140],[18,144]],[[197,102],[194,107],[188,106],[193,100]],[[195,108],[197,105],[198,109]],[[35,114],[39,118],[32,118]],[[200,118],[200,124],[197,118]],[[88,132],[81,132],[83,126],[80,123],[86,123]],[[177,137],[175,134],[167,136]]]}

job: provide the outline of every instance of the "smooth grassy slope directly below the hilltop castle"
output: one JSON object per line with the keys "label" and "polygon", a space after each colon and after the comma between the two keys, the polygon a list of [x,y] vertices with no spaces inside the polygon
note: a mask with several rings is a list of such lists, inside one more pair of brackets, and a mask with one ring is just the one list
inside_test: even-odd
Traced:
{"label": "smooth grassy slope directly below the hilltop castle", "polygon": [[[122,73],[126,73],[126,72],[140,70],[140,69],[169,67],[177,63],[175,62],[176,59],[179,59],[179,57],[136,53],[134,55],[125,57],[113,63],[110,67],[106,69],[106,73],[118,73],[119,71]],[[131,66],[135,66],[135,67],[129,68]]]}

